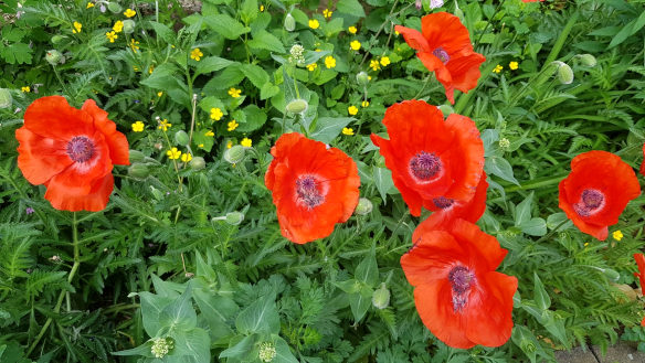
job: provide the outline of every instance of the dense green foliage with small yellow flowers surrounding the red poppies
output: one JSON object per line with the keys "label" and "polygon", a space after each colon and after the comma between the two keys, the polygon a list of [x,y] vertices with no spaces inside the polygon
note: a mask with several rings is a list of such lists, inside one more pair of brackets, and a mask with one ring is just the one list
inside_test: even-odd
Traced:
{"label": "dense green foliage with small yellow flowers surrounding the red poppies", "polygon": [[[12,98],[0,109],[0,361],[258,362],[273,352],[273,362],[536,362],[574,345],[606,349],[623,332],[645,341],[632,275],[645,199],[605,242],[558,207],[574,156],[642,162],[642,1],[92,4],[0,4],[0,88]],[[420,29],[440,10],[459,15],[486,56],[477,88],[454,106],[393,30]],[[370,79],[361,84],[360,72]],[[17,168],[14,131],[46,95],[75,107],[95,99],[140,152],[142,170],[115,167],[103,212],[52,209]],[[285,109],[296,98],[305,113]],[[482,132],[490,186],[478,225],[509,250],[500,270],[519,280],[500,348],[436,340],[401,270],[420,218],[369,135],[384,132],[388,106],[412,98],[468,116]],[[168,158],[188,152],[179,130],[204,169]],[[373,211],[314,243],[284,238],[264,174],[289,130],[353,158]],[[231,164],[228,146],[241,142],[251,148]],[[219,218],[233,212],[243,221]]]}

